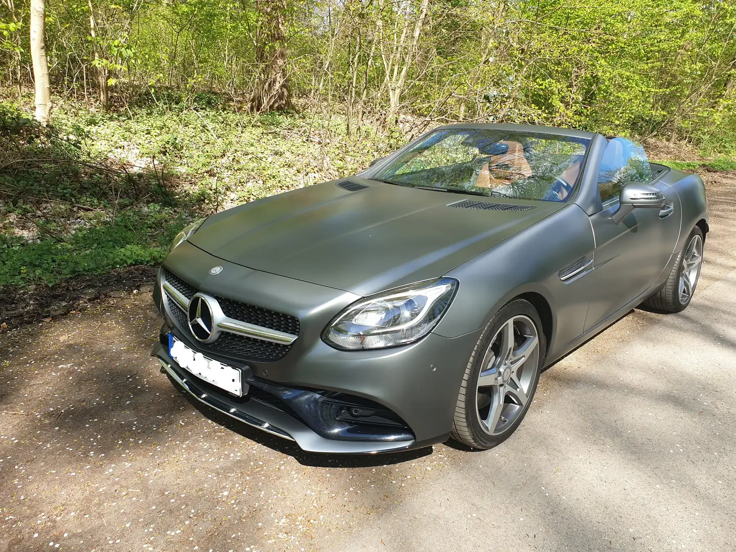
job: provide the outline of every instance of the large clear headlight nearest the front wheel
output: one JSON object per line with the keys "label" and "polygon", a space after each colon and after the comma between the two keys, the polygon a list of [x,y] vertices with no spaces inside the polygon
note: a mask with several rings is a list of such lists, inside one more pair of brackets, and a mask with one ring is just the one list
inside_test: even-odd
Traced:
{"label": "large clear headlight nearest the front wheel", "polygon": [[367,297],[338,314],[325,328],[322,339],[344,350],[415,342],[439,322],[457,287],[457,280],[439,278]]}

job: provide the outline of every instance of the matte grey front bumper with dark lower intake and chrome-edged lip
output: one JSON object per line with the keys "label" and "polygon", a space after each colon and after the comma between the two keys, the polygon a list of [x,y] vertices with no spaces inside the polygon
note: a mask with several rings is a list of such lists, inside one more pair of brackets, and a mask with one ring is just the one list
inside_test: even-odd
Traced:
{"label": "matte grey front bumper with dark lower intake and chrome-edged lip", "polygon": [[[170,330],[164,326],[162,336]],[[355,364],[344,364],[342,371],[351,372],[347,380],[342,377],[344,374],[335,373],[335,359],[327,362],[325,358],[321,368],[313,366],[314,383],[308,386],[302,383],[302,386],[291,387],[267,381],[252,375],[250,367],[242,365],[244,381],[251,389],[242,398],[221,391],[180,367],[169,356],[168,347],[163,343],[154,347],[151,354],[158,358],[161,371],[169,376],[171,382],[200,403],[261,431],[294,441],[302,450],[316,453],[389,453],[434,445],[449,437],[461,372],[453,378],[451,373],[458,370],[440,358],[464,358],[467,348],[463,345],[472,349],[477,336],[463,337],[465,339],[447,339],[430,334],[414,346],[376,351],[370,366],[365,358]],[[420,350],[422,343],[425,343],[424,352]],[[326,345],[325,348],[325,353],[332,352],[343,363],[346,359],[342,357],[350,355]],[[383,353],[383,356],[375,353]],[[421,357],[425,360],[420,360]],[[444,375],[436,373],[440,367]],[[464,361],[457,367],[464,368]],[[394,376],[391,377],[389,372],[394,372]],[[330,381],[341,385],[325,385]],[[328,392],[355,398],[366,397],[396,413],[406,425],[371,426],[335,420],[329,412],[319,413],[317,401],[312,398],[321,395],[311,389],[328,389]],[[254,392],[259,393],[255,400],[252,397]],[[264,400],[269,392],[272,392],[273,400]],[[286,400],[279,400],[280,397],[286,397]],[[294,397],[293,401],[289,400],[291,397]]]}

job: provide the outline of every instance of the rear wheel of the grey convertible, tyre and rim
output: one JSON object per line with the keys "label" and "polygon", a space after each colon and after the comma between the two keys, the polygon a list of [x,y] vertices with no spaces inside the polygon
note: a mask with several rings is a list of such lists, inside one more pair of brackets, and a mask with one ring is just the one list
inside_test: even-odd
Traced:
{"label": "rear wheel of the grey convertible, tyre and rim", "polygon": [[664,314],[684,311],[693,299],[703,261],[703,232],[697,226],[687,236],[685,246],[672,266],[665,286],[643,302]]}

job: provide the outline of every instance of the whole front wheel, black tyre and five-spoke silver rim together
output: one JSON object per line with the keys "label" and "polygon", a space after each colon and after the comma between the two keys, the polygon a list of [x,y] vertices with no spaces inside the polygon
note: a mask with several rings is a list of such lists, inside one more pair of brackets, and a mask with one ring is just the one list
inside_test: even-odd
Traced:
{"label": "whole front wheel, black tyre and five-spoke silver rim together", "polygon": [[537,391],[545,333],[530,302],[514,299],[486,325],[467,363],[452,434],[473,448],[500,445],[519,427]]}

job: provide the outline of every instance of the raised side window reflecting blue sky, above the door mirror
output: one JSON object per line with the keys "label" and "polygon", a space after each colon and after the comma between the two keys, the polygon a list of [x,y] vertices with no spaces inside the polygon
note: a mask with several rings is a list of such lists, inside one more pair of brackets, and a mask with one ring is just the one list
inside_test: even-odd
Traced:
{"label": "raised side window reflecting blue sky, above the door mirror", "polygon": [[621,186],[627,182],[649,182],[652,178],[649,160],[641,144],[626,138],[612,138],[609,141],[598,171],[601,202],[618,197]]}

